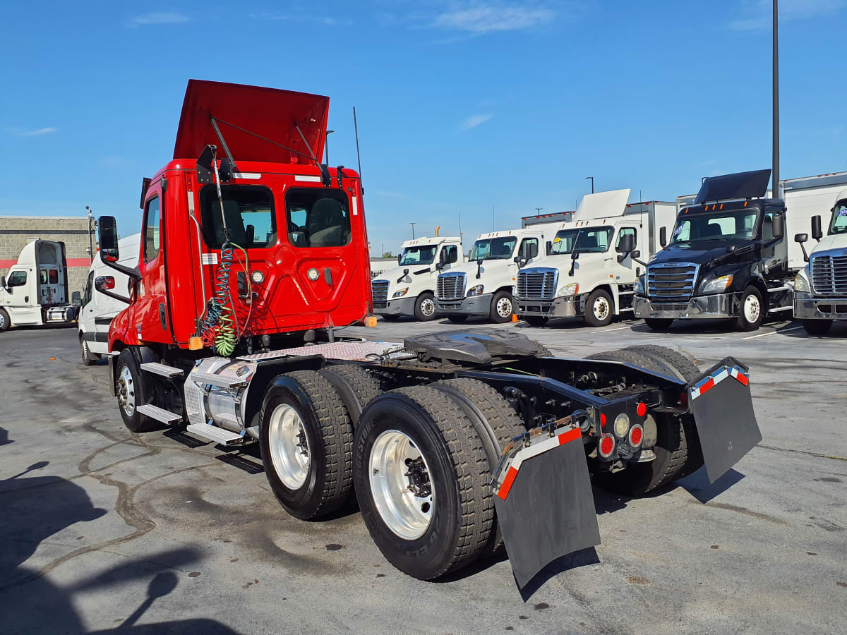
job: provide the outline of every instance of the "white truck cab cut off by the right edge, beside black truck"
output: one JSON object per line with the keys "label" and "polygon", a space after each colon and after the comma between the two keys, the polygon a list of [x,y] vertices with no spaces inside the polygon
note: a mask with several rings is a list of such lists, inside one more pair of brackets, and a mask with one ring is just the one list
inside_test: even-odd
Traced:
{"label": "white truck cab cut off by the right edge, beside black truck", "polygon": [[[794,278],[794,317],[811,335],[827,334],[834,320],[847,320],[847,189],[836,196],[830,212],[825,237],[821,217],[811,219],[817,245]],[[805,234],[794,236],[800,245],[808,239]]]}

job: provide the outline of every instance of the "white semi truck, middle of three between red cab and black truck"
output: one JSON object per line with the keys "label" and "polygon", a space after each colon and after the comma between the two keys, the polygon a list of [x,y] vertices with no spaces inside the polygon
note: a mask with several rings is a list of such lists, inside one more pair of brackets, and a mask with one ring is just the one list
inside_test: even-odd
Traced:
{"label": "white semi truck, middle of three between red cab and black truck", "polygon": [[468,262],[438,276],[436,310],[451,322],[464,322],[468,317],[510,322],[518,271],[538,258],[545,232],[552,239],[547,225],[480,234]]}

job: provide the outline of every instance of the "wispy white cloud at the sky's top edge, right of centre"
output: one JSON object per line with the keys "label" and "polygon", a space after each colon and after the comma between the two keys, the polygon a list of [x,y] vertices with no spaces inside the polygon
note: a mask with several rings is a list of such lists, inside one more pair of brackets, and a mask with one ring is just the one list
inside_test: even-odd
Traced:
{"label": "wispy white cloud at the sky's top edge, right of centre", "polygon": [[495,31],[530,29],[545,25],[555,18],[555,11],[540,4],[462,2],[451,3],[450,8],[435,16],[432,25],[440,29],[482,35]]}

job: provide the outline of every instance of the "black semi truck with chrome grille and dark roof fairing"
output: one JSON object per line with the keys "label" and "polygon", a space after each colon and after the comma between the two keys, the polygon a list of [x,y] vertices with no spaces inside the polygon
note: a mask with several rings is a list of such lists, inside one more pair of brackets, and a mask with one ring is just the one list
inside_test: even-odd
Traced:
{"label": "black semi truck with chrome grille and dark roof fairing", "polygon": [[786,205],[765,198],[768,179],[769,169],[705,179],[639,278],[635,317],[659,330],[676,319],[725,317],[750,331],[790,310]]}

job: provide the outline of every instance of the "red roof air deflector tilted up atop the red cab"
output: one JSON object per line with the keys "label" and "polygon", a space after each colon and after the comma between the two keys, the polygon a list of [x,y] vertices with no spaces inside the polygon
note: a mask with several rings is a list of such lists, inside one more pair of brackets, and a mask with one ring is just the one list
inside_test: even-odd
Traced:
{"label": "red roof air deflector tilted up atop the red cab", "polygon": [[[176,131],[174,159],[197,159],[209,144],[218,146],[218,157],[226,156],[214,131],[213,117],[236,164],[239,161],[312,163],[311,154],[318,160],[324,155],[328,113],[329,97],[219,81],[188,80],[180,127]],[[300,126],[308,147],[295,124]]]}

